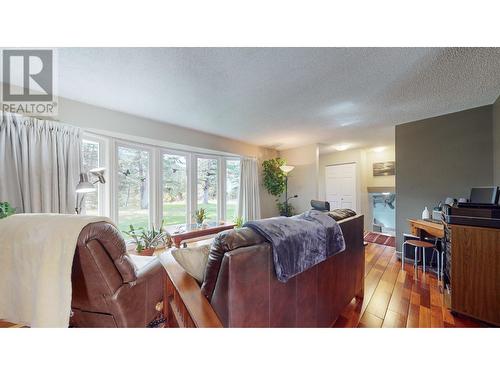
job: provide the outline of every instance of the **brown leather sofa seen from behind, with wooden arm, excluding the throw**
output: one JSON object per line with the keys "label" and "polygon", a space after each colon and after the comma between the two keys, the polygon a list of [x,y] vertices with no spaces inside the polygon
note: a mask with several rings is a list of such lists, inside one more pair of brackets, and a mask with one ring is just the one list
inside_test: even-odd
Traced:
{"label": "brown leather sofa seen from behind, with wooden arm, excluding the throw", "polygon": [[272,249],[250,228],[220,233],[198,285],[171,255],[165,316],[171,327],[331,327],[355,297],[363,298],[363,216],[338,221],[346,250],[287,283],[277,280]]}

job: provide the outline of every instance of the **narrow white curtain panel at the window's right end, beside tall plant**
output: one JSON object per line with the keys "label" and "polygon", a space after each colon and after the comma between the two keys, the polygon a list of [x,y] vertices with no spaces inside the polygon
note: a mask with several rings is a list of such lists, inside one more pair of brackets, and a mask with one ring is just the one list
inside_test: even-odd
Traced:
{"label": "narrow white curtain panel at the window's right end, beside tall plant", "polygon": [[259,166],[256,159],[241,159],[238,216],[244,221],[260,219]]}

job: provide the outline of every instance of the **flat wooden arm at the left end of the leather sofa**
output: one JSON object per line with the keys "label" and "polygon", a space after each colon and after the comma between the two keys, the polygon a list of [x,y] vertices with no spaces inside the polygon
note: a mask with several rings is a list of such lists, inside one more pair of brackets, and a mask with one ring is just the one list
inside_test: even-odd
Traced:
{"label": "flat wooden arm at the left end of the leather sofa", "polygon": [[160,256],[166,270],[164,315],[170,327],[220,328],[222,324],[196,280],[170,252]]}

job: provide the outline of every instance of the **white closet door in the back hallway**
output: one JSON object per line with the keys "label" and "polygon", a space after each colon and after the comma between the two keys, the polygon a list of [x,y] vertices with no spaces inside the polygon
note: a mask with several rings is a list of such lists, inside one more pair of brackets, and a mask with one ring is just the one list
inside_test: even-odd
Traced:
{"label": "white closet door in the back hallway", "polygon": [[325,167],[326,200],[330,209],[350,208],[356,211],[356,164],[339,164]]}

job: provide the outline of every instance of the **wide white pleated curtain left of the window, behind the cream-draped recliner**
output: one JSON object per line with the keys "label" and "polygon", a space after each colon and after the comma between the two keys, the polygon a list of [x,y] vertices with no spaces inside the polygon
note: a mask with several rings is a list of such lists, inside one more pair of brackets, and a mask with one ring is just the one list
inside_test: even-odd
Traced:
{"label": "wide white pleated curtain left of the window, behind the cream-draped recliner", "polygon": [[79,128],[0,112],[0,201],[17,212],[74,213]]}

